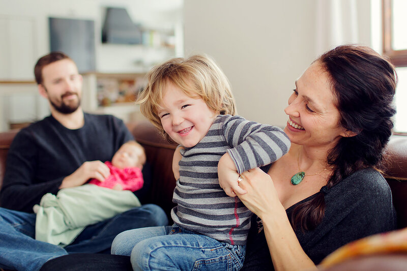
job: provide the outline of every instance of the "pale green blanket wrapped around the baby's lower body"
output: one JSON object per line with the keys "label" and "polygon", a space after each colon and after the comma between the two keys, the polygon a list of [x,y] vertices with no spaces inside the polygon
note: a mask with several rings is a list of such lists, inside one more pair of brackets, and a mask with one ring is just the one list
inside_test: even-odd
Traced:
{"label": "pale green blanket wrapped around the baby's lower body", "polygon": [[35,238],[64,247],[86,226],[140,205],[131,191],[90,184],[61,189],[56,196],[47,193],[40,205],[34,206],[37,213]]}

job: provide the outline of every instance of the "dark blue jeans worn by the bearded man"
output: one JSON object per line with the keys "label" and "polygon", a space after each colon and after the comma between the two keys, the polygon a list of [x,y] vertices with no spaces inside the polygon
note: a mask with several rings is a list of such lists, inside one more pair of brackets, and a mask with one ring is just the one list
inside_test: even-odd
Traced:
{"label": "dark blue jeans worn by the bearded man", "polygon": [[122,231],[168,225],[157,205],[136,207],[111,219],[86,227],[65,248],[35,239],[35,214],[0,207],[0,268],[39,270],[48,260],[68,253],[109,253],[111,242]]}

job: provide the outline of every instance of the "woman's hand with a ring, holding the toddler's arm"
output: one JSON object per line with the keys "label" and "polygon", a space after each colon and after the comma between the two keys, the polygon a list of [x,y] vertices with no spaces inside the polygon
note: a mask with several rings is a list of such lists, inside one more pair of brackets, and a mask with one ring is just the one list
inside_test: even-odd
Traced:
{"label": "woman's hand with a ring, holding the toddler's arm", "polygon": [[236,194],[246,207],[259,218],[263,218],[265,214],[270,214],[276,207],[282,207],[269,174],[259,168],[254,168],[243,172],[241,176],[242,180],[239,186],[247,193],[240,194],[237,192]]}

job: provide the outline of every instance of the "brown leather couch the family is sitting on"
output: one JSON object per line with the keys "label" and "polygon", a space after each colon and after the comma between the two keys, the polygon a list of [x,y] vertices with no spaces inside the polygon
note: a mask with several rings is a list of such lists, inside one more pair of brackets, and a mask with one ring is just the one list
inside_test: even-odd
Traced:
{"label": "brown leather couch the family is sitting on", "polygon": [[[134,138],[146,149],[147,161],[152,166],[151,187],[144,203],[155,203],[169,215],[172,192],[176,185],[171,169],[176,145],[166,142],[156,128],[147,121],[129,123]],[[6,156],[18,131],[0,133],[0,187],[3,182]],[[399,228],[407,227],[407,136],[392,136],[386,158],[388,168],[384,175],[393,193]]]}

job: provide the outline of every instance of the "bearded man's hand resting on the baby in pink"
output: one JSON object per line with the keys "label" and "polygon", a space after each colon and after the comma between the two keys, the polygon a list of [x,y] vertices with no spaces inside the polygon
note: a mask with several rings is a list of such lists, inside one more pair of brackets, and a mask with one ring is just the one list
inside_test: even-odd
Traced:
{"label": "bearded man's hand resting on the baby in pink", "polygon": [[109,167],[101,161],[87,161],[84,162],[71,175],[66,176],[62,180],[60,189],[81,186],[91,178],[95,178],[100,180],[100,182],[103,182],[109,175]]}

